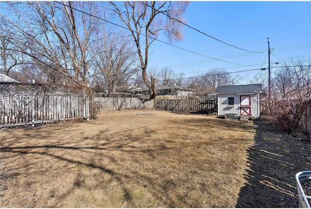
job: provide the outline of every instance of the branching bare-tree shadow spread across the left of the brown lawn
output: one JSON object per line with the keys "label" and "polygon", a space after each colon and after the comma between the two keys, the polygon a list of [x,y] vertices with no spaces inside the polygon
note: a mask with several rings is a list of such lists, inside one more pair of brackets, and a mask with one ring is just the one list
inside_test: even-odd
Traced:
{"label": "branching bare-tree shadow spread across the left of the brown lawn", "polygon": [[[119,197],[122,199],[122,201],[126,201],[130,206],[136,206],[136,207],[143,207],[136,205],[137,203],[133,202],[132,192],[133,188],[131,188],[129,185],[129,182],[134,182],[134,185],[143,186],[143,185],[153,185],[153,195],[157,197],[157,199],[162,202],[166,203],[168,207],[174,207],[174,201],[170,197],[165,197],[164,193],[167,189],[169,189],[170,182],[163,181],[165,185],[161,184],[155,184],[157,177],[150,177],[147,174],[144,174],[144,171],[139,171],[139,169],[136,169],[136,166],[138,167],[141,163],[141,159],[139,157],[145,156],[145,157],[151,157],[155,158],[159,153],[162,151],[167,151],[168,148],[161,142],[155,142],[152,147],[144,147],[143,145],[140,146],[141,141],[147,139],[150,137],[150,135],[155,132],[154,130],[150,129],[149,126],[141,126],[137,127],[131,130],[124,130],[120,131],[118,133],[114,134],[106,134],[105,130],[101,131],[99,134],[94,135],[92,137],[81,137],[80,139],[72,139],[70,143],[68,141],[61,139],[56,142],[42,142],[38,141],[40,144],[35,145],[34,142],[32,142],[29,145],[20,145],[19,142],[22,141],[23,144],[25,142],[24,137],[15,135],[13,138],[14,140],[6,141],[6,145],[2,145],[0,147],[0,152],[3,155],[3,159],[5,158],[12,158],[12,156],[20,158],[21,161],[24,161],[23,164],[15,164],[14,169],[12,169],[9,173],[5,174],[5,176],[1,177],[1,180],[9,180],[13,178],[18,178],[23,175],[37,175],[40,173],[40,175],[44,175],[44,170],[52,169],[52,165],[43,165],[44,161],[42,159],[51,157],[54,160],[57,160],[58,163],[62,164],[63,167],[60,169],[65,169],[67,171],[70,171],[70,166],[72,164],[76,164],[79,166],[78,174],[73,179],[72,185],[70,185],[70,188],[66,190],[66,192],[55,194],[55,191],[50,192],[50,197],[57,198],[58,200],[64,200],[70,195],[73,195],[76,190],[79,190],[80,188],[85,187],[85,181],[83,180],[83,175],[81,173],[84,172],[84,169],[87,168],[89,170],[99,170],[102,174],[106,174],[109,177],[110,180],[102,180],[99,179],[97,182],[97,186],[89,188],[89,190],[94,189],[101,189],[101,185],[107,185],[111,183],[111,181],[116,181],[118,185],[121,186],[122,196]],[[136,129],[142,129],[140,134],[133,135],[131,131]],[[56,129],[51,131],[51,133],[45,132],[45,135],[52,135],[56,132],[64,132],[64,130]],[[78,130],[77,130],[78,131]],[[59,133],[60,133],[59,132]],[[15,132],[11,132],[12,135],[14,135]],[[57,134],[57,133],[56,133]],[[41,138],[41,134],[39,136],[36,136],[37,133],[32,132],[31,134],[27,134],[27,137],[29,138]],[[41,138],[42,139],[42,138]],[[98,141],[98,142],[97,142]],[[138,143],[135,143],[138,142]],[[131,157],[131,160],[134,161],[133,168],[128,168],[128,166],[124,166],[123,162],[120,160],[120,158],[115,157],[114,155],[110,154],[109,152],[118,152],[120,155],[128,154],[127,156]],[[67,155],[68,153],[78,155],[78,157],[69,157],[70,155]],[[80,153],[80,154],[77,154]],[[8,154],[8,155],[6,155]],[[31,160],[29,160],[29,157],[26,160],[26,156],[39,156],[34,157]],[[84,156],[90,156],[90,159],[86,159]],[[109,163],[114,164],[113,168],[110,168],[109,163],[102,163],[103,159],[107,159]],[[27,161],[27,162],[26,162]],[[56,161],[55,161],[56,162]],[[64,164],[65,163],[65,164]],[[33,172],[31,172],[31,168],[36,166],[37,169]],[[124,172],[122,167],[126,167]],[[121,171],[122,170],[122,171]],[[42,174],[41,174],[42,173]],[[156,174],[157,175],[157,174]],[[141,179],[136,179],[137,176],[139,178],[143,179],[143,183],[141,182]],[[92,177],[92,176],[91,176]],[[27,180],[32,181],[32,180]],[[38,180],[40,181],[40,180]],[[31,183],[28,183],[31,185]],[[132,184],[133,185],[133,184]],[[5,188],[7,189],[7,188]],[[2,191],[0,191],[2,192]],[[27,194],[24,194],[27,196]],[[117,198],[117,197],[116,197]],[[182,200],[180,200],[182,202]],[[32,204],[35,204],[33,202]],[[41,203],[42,204],[42,203]],[[52,205],[47,205],[47,207],[55,208],[55,207],[62,207],[64,203],[57,203]],[[21,205],[16,205],[17,207],[21,207]],[[38,207],[38,205],[24,205],[26,207]],[[112,205],[113,207],[116,207],[117,205]],[[42,207],[42,205],[39,205],[39,207]],[[145,206],[146,207],[146,206]],[[155,206],[148,206],[148,207],[158,207],[158,205]]]}

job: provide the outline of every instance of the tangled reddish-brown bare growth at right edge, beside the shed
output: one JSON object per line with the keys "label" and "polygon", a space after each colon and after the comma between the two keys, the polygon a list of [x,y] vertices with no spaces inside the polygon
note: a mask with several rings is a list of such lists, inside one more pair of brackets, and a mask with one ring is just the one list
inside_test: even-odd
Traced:
{"label": "tangled reddish-brown bare growth at right edge, beside the shed", "polygon": [[270,103],[270,114],[285,131],[299,129],[301,114],[311,104],[310,57],[290,57],[283,68],[275,70]]}

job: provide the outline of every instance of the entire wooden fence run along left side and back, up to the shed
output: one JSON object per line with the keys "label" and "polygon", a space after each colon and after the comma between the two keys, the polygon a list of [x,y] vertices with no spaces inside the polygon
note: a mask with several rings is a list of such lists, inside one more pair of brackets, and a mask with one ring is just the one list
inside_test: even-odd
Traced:
{"label": "entire wooden fence run along left side and back, up to the shed", "polygon": [[217,99],[155,99],[142,103],[139,98],[90,97],[86,87],[0,84],[0,127],[88,118],[94,106],[99,111],[155,108],[211,113],[217,110]]}

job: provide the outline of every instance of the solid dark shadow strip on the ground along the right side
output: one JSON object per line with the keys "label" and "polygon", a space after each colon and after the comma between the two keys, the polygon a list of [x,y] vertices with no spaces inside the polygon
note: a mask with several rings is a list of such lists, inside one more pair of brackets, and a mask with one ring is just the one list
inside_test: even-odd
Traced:
{"label": "solid dark shadow strip on the ground along the right side", "polygon": [[248,150],[248,183],[241,189],[236,208],[297,208],[294,176],[306,170],[306,151],[299,139],[256,121],[255,144]]}

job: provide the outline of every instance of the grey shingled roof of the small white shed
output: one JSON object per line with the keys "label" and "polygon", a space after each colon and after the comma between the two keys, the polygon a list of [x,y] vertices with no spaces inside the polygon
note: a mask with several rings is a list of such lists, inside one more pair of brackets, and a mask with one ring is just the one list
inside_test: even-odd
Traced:
{"label": "grey shingled roof of the small white shed", "polygon": [[236,85],[217,87],[216,93],[258,93],[261,91],[261,84]]}

